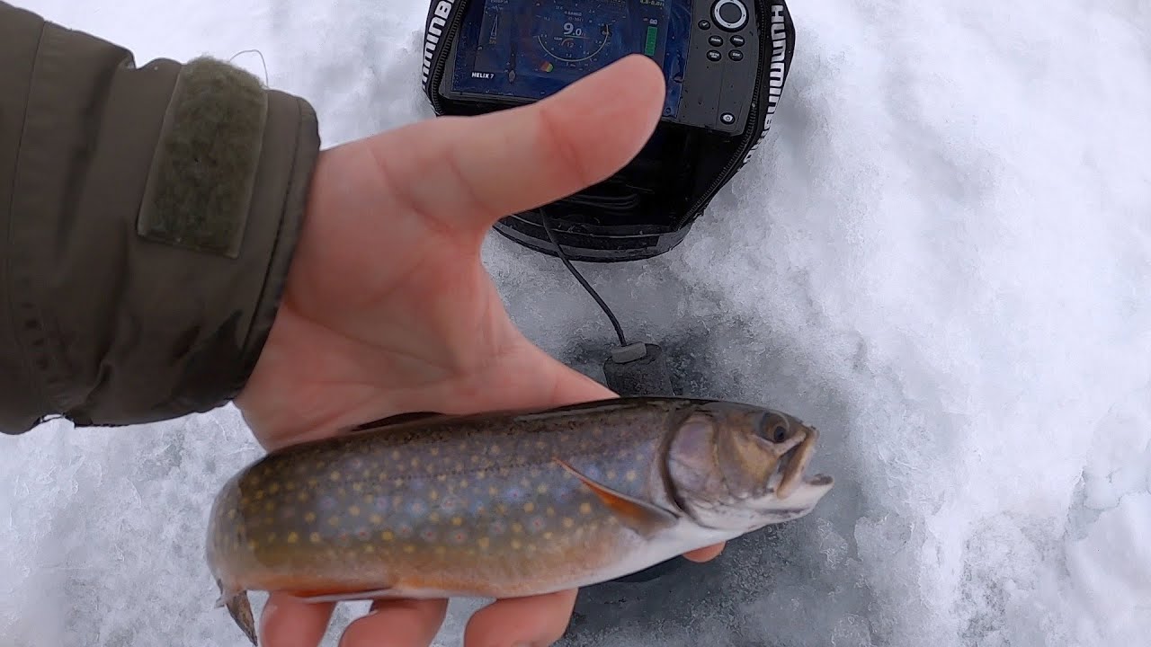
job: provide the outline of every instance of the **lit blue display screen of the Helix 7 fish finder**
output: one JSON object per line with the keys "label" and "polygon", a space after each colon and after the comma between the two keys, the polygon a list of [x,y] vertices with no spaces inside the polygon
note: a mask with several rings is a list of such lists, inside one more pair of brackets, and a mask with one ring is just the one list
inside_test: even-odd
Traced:
{"label": "lit blue display screen of the Helix 7 fish finder", "polygon": [[678,113],[691,0],[473,0],[452,90],[538,100],[628,54],[660,63]]}

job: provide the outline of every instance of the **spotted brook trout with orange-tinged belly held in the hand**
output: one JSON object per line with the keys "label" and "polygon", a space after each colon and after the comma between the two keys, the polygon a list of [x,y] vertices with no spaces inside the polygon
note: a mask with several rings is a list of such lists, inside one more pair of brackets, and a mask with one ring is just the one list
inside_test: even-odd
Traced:
{"label": "spotted brook trout with orange-tinged belly held in the hand", "polygon": [[818,432],[787,413],[617,397],[410,412],[273,450],[212,504],[216,608],[258,645],[250,591],[306,602],[540,595],[799,519]]}

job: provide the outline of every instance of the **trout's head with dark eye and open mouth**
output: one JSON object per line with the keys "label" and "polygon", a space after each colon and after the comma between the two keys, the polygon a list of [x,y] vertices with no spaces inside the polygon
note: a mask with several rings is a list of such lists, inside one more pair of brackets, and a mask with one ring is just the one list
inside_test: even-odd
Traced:
{"label": "trout's head with dark eye and open mouth", "polygon": [[820,434],[771,409],[730,402],[694,408],[672,432],[666,475],[698,524],[734,533],[796,519],[833,479],[806,473]]}

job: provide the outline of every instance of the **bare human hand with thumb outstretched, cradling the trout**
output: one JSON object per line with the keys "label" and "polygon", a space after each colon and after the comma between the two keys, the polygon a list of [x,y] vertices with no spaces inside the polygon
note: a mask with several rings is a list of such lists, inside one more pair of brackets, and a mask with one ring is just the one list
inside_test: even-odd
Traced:
{"label": "bare human hand with thumb outstretched, cradling the trout", "polygon": [[[279,315],[236,401],[259,442],[274,449],[406,411],[615,396],[512,325],[480,245],[500,218],[627,163],[655,128],[663,87],[655,63],[631,56],[532,106],[429,120],[321,153]],[[470,618],[465,647],[549,645],[576,593],[496,601]],[[374,602],[340,645],[426,647],[447,607]],[[273,594],[262,642],[315,647],[333,608]]]}

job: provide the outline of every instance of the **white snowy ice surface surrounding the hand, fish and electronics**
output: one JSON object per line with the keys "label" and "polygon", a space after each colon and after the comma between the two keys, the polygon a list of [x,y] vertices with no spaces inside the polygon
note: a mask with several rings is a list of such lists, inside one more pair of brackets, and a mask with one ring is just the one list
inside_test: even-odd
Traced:
{"label": "white snowy ice surface surrounding the hand, fish and electronics", "polygon": [[[429,114],[424,2],[17,3],[140,61],[259,50],[329,145]],[[585,272],[685,393],[820,426],[839,485],[715,563],[585,596],[569,642],[1145,642],[1151,6],[791,6],[795,67],[754,162],[681,249]],[[597,374],[612,332],[563,267],[500,238],[486,260],[524,329]],[[239,644],[203,522],[257,454],[231,409],[6,441],[0,645]]]}

